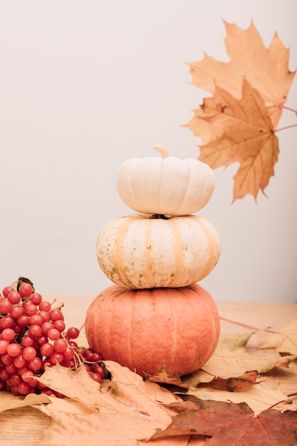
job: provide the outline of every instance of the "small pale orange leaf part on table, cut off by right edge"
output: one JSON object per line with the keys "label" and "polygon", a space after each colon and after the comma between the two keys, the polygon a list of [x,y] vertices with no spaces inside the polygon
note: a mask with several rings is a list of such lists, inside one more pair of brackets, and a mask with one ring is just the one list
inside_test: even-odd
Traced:
{"label": "small pale orange leaf part on table, cut off by right edge", "polygon": [[278,333],[259,343],[259,348],[274,348],[281,353],[297,355],[297,319],[286,323]]}

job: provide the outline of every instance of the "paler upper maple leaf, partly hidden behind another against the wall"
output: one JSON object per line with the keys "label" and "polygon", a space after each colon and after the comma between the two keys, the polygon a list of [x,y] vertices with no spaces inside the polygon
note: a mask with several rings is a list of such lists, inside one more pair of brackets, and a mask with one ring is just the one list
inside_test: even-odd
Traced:
{"label": "paler upper maple leaf, partly hidden behind another against the wall", "polygon": [[276,130],[295,75],[288,69],[289,50],[283,46],[277,33],[269,48],[266,48],[253,22],[247,29],[227,22],[224,25],[226,52],[230,61],[216,61],[204,55],[202,61],[189,63],[192,84],[212,94],[219,86],[240,99],[242,79],[246,78],[259,91],[269,108],[272,127]]}

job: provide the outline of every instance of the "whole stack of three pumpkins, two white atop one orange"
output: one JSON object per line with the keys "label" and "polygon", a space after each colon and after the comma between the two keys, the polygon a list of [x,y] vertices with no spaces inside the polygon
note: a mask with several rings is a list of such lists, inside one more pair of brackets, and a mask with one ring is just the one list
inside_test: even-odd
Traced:
{"label": "whole stack of three pumpkins, two white atop one orange", "polygon": [[198,370],[214,353],[219,315],[197,284],[219,260],[217,229],[194,212],[207,204],[214,173],[203,162],[132,158],[118,170],[121,199],[137,214],[112,219],[97,240],[100,268],[113,281],[90,304],[85,333],[103,358],[140,375],[163,366]]}

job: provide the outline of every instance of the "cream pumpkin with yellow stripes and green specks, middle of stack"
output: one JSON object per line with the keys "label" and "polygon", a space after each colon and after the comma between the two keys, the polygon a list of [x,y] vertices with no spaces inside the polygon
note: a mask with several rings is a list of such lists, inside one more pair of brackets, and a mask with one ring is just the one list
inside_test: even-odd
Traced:
{"label": "cream pumpkin with yellow stripes and green specks, middle of stack", "polygon": [[97,240],[102,271],[130,289],[194,284],[214,269],[220,251],[217,229],[196,215],[117,217],[105,224]]}

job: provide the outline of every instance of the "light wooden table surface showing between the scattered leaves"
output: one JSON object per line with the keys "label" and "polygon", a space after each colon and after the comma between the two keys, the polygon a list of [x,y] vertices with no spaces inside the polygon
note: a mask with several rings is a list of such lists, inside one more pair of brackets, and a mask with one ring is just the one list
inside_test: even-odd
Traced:
{"label": "light wooden table surface showing between the scattered leaves", "polygon": [[[49,296],[43,295],[43,297],[48,299]],[[81,326],[84,321],[85,311],[93,297],[51,296],[51,298],[53,297],[56,297],[58,302],[63,302],[64,304],[63,313],[66,327]],[[217,308],[222,318],[222,333],[246,332],[249,331],[247,326],[262,329],[271,327],[277,331],[293,318],[297,318],[297,304],[294,303],[266,304],[259,302],[218,301]],[[239,326],[225,319],[236,321],[246,326]],[[268,375],[271,375],[273,378],[273,370]],[[291,363],[288,369],[283,370],[280,386],[284,393],[296,392],[296,361]],[[34,408],[6,410],[0,413],[0,446],[38,446],[44,430],[50,423],[51,418]]]}

